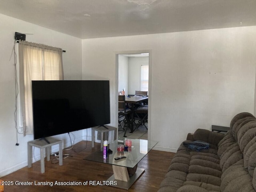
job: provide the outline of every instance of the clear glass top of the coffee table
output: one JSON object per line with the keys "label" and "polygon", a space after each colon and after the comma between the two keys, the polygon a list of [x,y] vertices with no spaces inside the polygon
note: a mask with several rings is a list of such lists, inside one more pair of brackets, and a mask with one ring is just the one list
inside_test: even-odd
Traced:
{"label": "clear glass top of the coffee table", "polygon": [[[125,139],[128,140],[128,139]],[[127,151],[118,152],[117,145],[124,144],[125,141],[120,142],[120,140],[114,140],[114,142],[108,144],[108,148],[111,149],[113,152],[112,154],[108,154],[107,159],[103,159],[103,151],[97,151],[89,156],[85,157],[84,160],[90,160],[95,162],[102,162],[117,166],[124,166],[133,168],[148,154],[148,152],[158,143],[150,140],[143,140],[143,139],[129,139],[132,140],[132,146],[128,147]],[[126,158],[115,160],[114,158],[126,156]]]}

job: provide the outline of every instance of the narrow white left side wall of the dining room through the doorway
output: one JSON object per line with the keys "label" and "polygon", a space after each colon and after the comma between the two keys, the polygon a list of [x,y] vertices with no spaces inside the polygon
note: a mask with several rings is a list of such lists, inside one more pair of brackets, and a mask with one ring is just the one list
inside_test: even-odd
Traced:
{"label": "narrow white left side wall of the dining room through the doorway", "polygon": [[118,56],[118,91],[125,90],[127,95],[129,92],[129,58],[127,56]]}

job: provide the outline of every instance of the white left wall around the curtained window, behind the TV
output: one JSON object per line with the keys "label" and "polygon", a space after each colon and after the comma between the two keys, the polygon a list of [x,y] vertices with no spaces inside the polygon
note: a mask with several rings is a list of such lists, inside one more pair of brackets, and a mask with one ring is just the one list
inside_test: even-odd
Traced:
{"label": "white left wall around the curtained window, behind the TV", "polygon": [[[27,142],[33,140],[33,135],[24,137],[19,134],[20,145],[15,145],[15,83],[14,54],[12,54],[15,32],[32,33],[34,35],[26,36],[27,41],[66,50],[66,53],[63,53],[64,79],[82,79],[81,39],[0,14],[0,177],[27,166]],[[16,44],[16,49],[18,51],[18,44]],[[82,140],[82,131],[73,133],[76,136],[76,142]],[[56,138],[63,139],[65,146],[70,145],[66,134],[56,136]],[[55,150],[58,150],[57,146]],[[35,150],[35,156],[40,159],[39,150]]]}

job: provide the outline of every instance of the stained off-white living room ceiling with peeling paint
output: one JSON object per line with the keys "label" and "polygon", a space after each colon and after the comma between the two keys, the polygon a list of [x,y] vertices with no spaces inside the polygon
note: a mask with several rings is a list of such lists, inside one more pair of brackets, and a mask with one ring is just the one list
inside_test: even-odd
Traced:
{"label": "stained off-white living room ceiling with peeling paint", "polygon": [[81,39],[256,26],[256,0],[0,0],[0,13]]}

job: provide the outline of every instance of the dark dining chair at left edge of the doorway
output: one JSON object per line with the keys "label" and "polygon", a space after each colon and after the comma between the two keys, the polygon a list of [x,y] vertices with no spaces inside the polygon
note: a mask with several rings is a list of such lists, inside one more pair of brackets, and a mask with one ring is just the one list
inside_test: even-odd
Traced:
{"label": "dark dining chair at left edge of the doorway", "polygon": [[[124,137],[126,137],[127,129],[131,129],[131,113],[132,111],[129,108],[126,108],[125,96],[118,95],[118,123],[124,130]],[[126,128],[124,128],[122,122],[124,122]]]}

